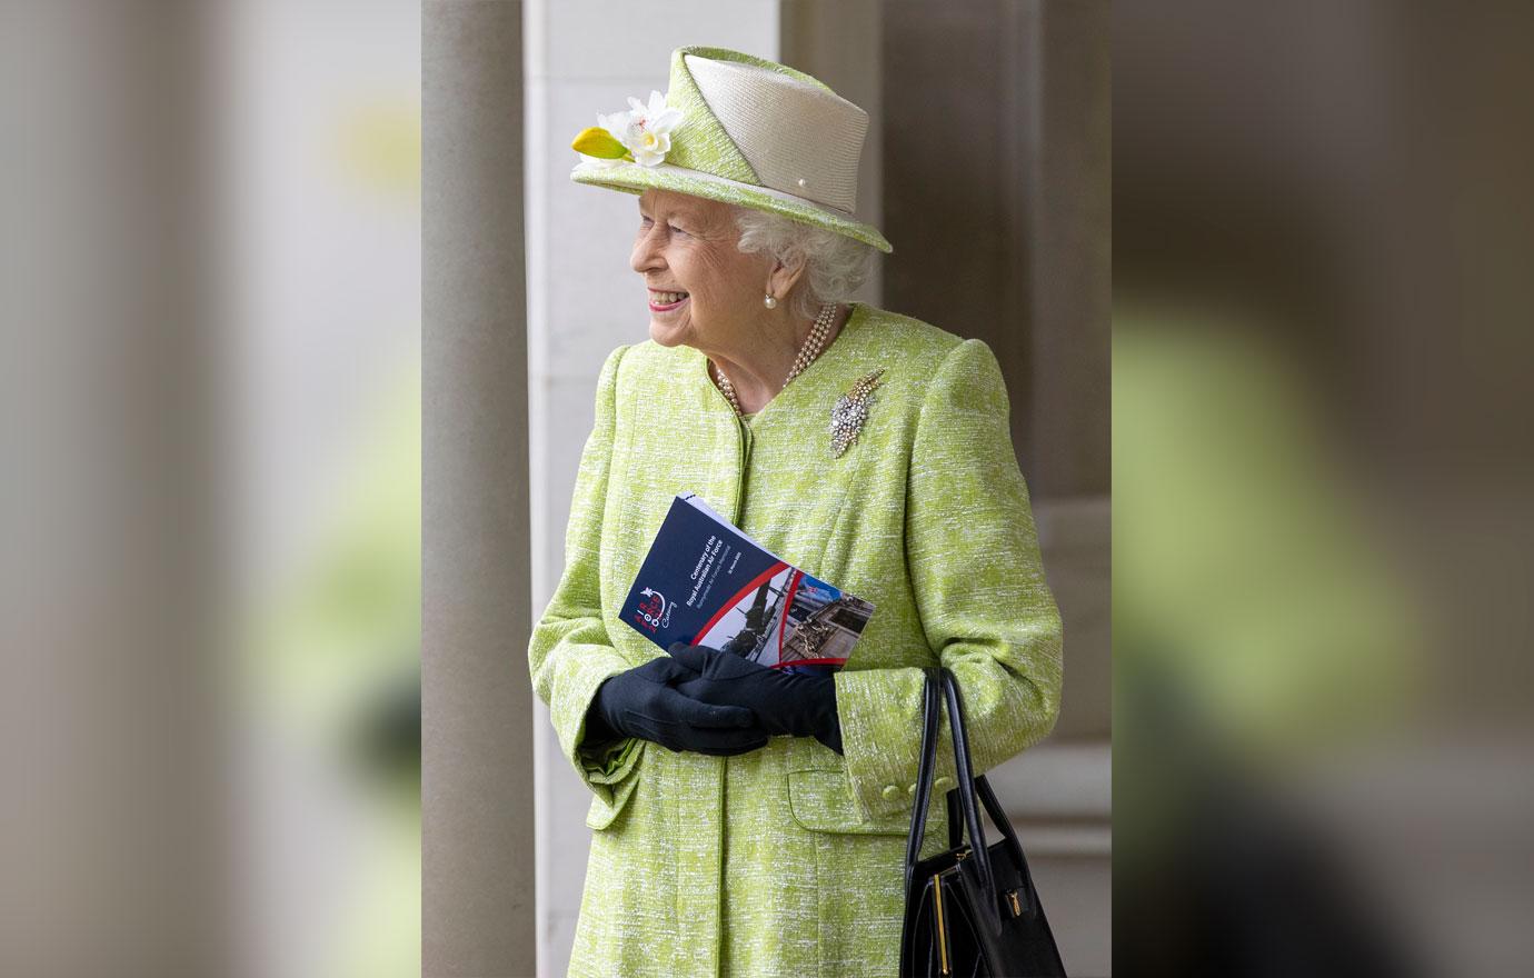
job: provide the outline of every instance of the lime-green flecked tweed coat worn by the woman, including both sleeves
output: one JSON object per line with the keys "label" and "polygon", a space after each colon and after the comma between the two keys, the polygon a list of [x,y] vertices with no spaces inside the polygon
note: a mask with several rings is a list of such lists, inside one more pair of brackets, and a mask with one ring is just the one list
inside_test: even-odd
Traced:
{"label": "lime-green flecked tweed coat worn by the woman, including both sleeves", "polygon": [[[982,771],[1045,737],[1060,704],[1060,616],[1002,372],[979,340],[862,304],[749,422],[706,363],[652,342],[607,357],[565,575],[532,632],[534,687],[594,794],[569,973],[893,975],[920,667],[957,676]],[[833,458],[831,405],[879,368],[862,438]],[[836,676],[845,757],[813,737],[736,757],[580,747],[597,685],[664,655],[618,609],[686,491],[877,606]],[[948,779],[946,740],[942,757]],[[940,845],[942,814],[934,793],[923,852]]]}

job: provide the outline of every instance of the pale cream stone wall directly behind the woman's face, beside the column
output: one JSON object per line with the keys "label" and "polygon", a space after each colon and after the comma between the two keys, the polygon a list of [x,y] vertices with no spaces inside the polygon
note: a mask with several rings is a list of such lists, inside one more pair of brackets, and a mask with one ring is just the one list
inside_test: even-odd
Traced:
{"label": "pale cream stone wall directly behind the woman's face, beside the column", "polygon": [[[575,466],[601,362],[647,339],[644,288],[629,268],[635,198],[569,181],[571,138],[629,95],[667,89],[670,52],[709,43],[778,58],[778,0],[529,0],[526,5],[528,392],[532,607],[565,569]],[[526,653],[523,651],[523,656]],[[525,661],[525,659],[523,659]],[[591,791],[537,710],[538,973],[563,975],[586,878]]]}

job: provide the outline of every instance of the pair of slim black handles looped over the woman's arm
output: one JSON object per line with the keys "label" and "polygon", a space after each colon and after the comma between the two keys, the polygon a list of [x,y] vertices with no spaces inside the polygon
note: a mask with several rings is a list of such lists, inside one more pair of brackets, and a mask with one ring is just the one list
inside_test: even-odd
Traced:
{"label": "pair of slim black handles looped over the woman's arm", "polygon": [[[948,704],[948,728],[951,730],[954,740],[954,774],[959,780],[959,786],[948,793],[950,840],[953,840],[956,829],[953,819],[953,799],[957,796],[959,808],[963,811],[963,820],[969,829],[969,855],[976,863],[976,874],[980,877],[980,889],[992,897],[985,901],[988,904],[985,917],[989,929],[996,932],[1002,926],[1002,894],[999,892],[996,877],[991,872],[991,855],[985,845],[985,829],[980,826],[980,812],[979,805],[976,803],[976,777],[969,762],[969,737],[965,733],[963,702],[959,697],[959,682],[946,668],[939,667],[928,668],[925,671],[927,687],[922,707],[922,759],[916,774],[916,809],[911,814],[911,834],[905,840],[905,884],[907,889],[910,889],[911,874],[916,869],[916,861],[922,849],[922,837],[927,832],[927,805],[931,799],[933,774],[937,766],[937,691],[940,687],[943,699]],[[997,812],[1000,805],[996,803],[996,794],[991,791],[989,785],[983,786],[982,794],[986,800],[986,811],[991,816],[991,820],[997,823],[997,828],[1002,828],[1005,817]],[[1016,835],[1012,835],[1009,829],[1011,826],[1006,826],[1002,831],[1008,835],[1009,842],[1016,845]]]}

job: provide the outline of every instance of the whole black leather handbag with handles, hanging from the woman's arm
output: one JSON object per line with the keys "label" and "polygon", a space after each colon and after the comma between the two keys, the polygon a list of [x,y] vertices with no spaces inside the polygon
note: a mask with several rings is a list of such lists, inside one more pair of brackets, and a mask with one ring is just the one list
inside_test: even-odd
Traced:
{"label": "whole black leather handbag with handles, hanging from the woman's arm", "polygon": [[[917,861],[927,831],[927,803],[937,766],[939,696],[948,702],[959,786],[948,793],[948,849]],[[979,797],[1002,840],[985,845]],[[963,820],[960,822],[960,814]],[[965,828],[969,845],[965,845]],[[1028,860],[985,776],[974,777],[959,684],[946,668],[927,670],[922,762],[916,808],[905,846],[905,927],[900,975],[1054,978],[1065,963],[1039,903]]]}

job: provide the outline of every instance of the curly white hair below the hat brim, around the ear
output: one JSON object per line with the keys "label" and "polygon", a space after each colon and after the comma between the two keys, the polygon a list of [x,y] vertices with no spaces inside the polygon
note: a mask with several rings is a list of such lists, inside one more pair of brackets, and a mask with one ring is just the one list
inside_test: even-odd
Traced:
{"label": "curly white hair below the hat brim, around the ear", "polygon": [[815,319],[827,302],[851,300],[868,277],[873,247],[765,210],[733,207],[741,253],[765,254],[790,267],[804,262],[804,274],[790,293],[795,316]]}

